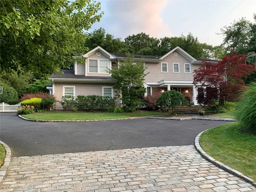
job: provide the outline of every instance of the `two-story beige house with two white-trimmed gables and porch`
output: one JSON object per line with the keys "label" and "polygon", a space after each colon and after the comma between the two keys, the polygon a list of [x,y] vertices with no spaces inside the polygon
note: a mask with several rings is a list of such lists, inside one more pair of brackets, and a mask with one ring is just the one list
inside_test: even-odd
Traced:
{"label": "two-story beige house with two white-trimmed gables and porch", "polygon": [[[52,74],[52,86],[47,89],[57,100],[64,95],[103,95],[114,96],[113,85],[116,82],[105,70],[125,59],[124,54],[108,53],[100,46],[85,53],[84,64],[74,63],[74,70],[61,70],[63,74]],[[163,56],[135,55],[134,62],[144,58],[147,67],[144,87],[146,94],[162,94],[166,90],[176,90],[197,105],[197,87],[192,84],[193,71],[202,65],[202,60],[217,63],[217,60],[194,58],[180,47],[176,47]],[[56,109],[62,109],[57,103]]]}

